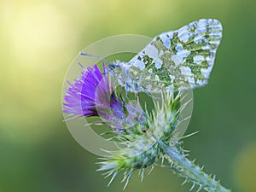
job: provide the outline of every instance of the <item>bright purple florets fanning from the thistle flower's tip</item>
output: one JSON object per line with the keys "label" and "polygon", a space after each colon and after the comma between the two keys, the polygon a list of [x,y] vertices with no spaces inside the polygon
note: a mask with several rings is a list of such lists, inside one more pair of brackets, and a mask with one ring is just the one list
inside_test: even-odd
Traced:
{"label": "bright purple florets fanning from the thistle flower's tip", "polygon": [[[70,113],[74,117],[97,116],[96,102],[99,99],[107,99],[110,96],[110,89],[107,79],[107,70],[102,64],[103,75],[99,68],[84,68],[79,79],[74,80],[73,84],[67,82],[70,86],[66,90],[63,103],[63,113]],[[108,104],[108,101],[102,101],[102,104]]]}

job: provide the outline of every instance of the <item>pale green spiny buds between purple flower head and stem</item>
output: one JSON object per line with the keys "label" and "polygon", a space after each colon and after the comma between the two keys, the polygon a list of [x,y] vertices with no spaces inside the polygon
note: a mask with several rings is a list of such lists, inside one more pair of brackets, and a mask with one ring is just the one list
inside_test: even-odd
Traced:
{"label": "pale green spiny buds between purple flower head and stem", "polygon": [[163,156],[159,142],[177,142],[178,138],[173,136],[172,132],[177,128],[181,110],[188,103],[180,106],[180,94],[174,97],[170,93],[163,95],[163,98],[161,105],[154,102],[155,110],[152,113],[146,111],[146,121],[143,124],[137,124],[133,129],[128,127],[126,132],[119,135],[119,141],[125,148],[108,152],[108,156],[101,158],[103,161],[99,163],[101,167],[98,171],[107,171],[106,177],[113,175],[109,184],[121,171],[124,171],[126,184],[135,170],[141,170],[143,178],[145,169]]}

